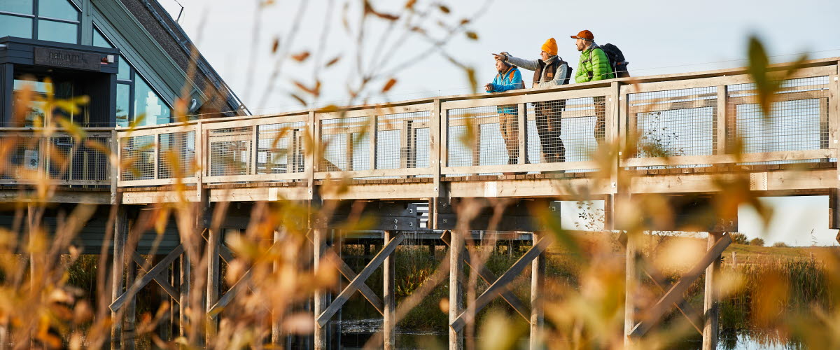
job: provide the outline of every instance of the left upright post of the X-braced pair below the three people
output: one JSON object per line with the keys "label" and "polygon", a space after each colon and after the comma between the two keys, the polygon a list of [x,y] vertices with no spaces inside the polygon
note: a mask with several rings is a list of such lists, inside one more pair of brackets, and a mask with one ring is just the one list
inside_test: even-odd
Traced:
{"label": "left upright post of the X-braced pair below the three people", "polygon": [[452,231],[449,245],[449,350],[464,348],[464,331],[455,331],[451,326],[464,310],[461,275],[464,274],[464,232]]}

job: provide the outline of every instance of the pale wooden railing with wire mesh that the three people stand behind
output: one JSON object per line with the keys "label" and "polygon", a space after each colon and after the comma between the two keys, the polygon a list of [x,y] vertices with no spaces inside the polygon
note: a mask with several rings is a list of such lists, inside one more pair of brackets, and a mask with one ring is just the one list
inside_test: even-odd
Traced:
{"label": "pale wooden railing with wire mesh that the three people stand behind", "polygon": [[[836,159],[838,96],[829,59],[783,81],[769,118],[735,69],[118,128],[119,159],[132,165],[118,186],[591,171],[601,138],[629,150],[613,155],[628,168]],[[546,113],[560,122],[543,123]],[[507,143],[501,124],[515,131]],[[546,142],[557,128],[562,156],[541,149],[559,147]]]}

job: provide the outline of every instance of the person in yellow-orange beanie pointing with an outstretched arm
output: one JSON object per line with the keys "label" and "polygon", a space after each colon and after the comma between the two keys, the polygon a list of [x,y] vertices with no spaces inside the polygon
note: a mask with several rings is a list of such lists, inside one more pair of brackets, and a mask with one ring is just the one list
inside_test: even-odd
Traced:
{"label": "person in yellow-orange beanie pointing with an outstretched arm", "polygon": [[[538,60],[524,60],[502,52],[493,54],[497,60],[517,65],[528,71],[533,71],[533,87],[554,87],[569,84],[571,69],[569,64],[557,55],[557,41],[554,38],[545,40],[540,46]],[[565,161],[566,148],[560,138],[561,112],[566,102],[546,101],[534,102],[533,110],[537,116],[537,133],[539,144],[543,151],[544,161],[557,163]]]}

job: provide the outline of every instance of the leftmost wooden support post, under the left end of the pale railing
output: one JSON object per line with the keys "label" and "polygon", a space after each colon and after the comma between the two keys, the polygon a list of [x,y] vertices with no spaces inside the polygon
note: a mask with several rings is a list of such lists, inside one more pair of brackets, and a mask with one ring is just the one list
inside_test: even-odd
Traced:
{"label": "leftmost wooden support post, under the left end of the pale railing", "polygon": [[[126,236],[128,236],[129,223],[126,208],[118,204],[117,217],[113,227],[113,264],[111,275],[111,302],[123,294],[123,271],[125,270],[124,248]],[[120,340],[123,337],[123,318],[119,311],[111,312],[111,348],[121,348]]]}

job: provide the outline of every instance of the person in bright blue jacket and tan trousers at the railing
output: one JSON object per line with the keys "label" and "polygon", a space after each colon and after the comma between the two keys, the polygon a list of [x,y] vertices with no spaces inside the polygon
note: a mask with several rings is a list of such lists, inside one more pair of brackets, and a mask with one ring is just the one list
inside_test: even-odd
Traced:
{"label": "person in bright blue jacket and tan trousers at the railing", "polygon": [[[516,65],[511,65],[503,60],[496,59],[496,78],[493,82],[486,84],[484,90],[487,92],[501,92],[522,89],[525,83],[522,82],[522,74],[519,73]],[[519,133],[517,119],[519,108],[517,105],[504,105],[496,107],[499,113],[499,131],[501,138],[505,140],[507,148],[507,164],[519,162]]]}

